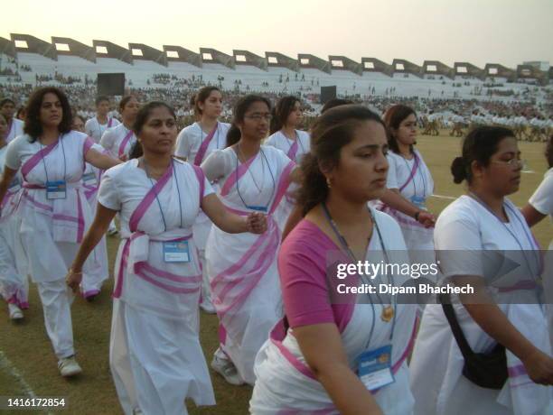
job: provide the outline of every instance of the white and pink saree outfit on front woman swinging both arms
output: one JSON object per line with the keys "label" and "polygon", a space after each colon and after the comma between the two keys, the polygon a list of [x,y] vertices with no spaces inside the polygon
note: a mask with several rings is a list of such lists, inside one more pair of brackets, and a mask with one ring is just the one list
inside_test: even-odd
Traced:
{"label": "white and pink saree outfit on front woman swinging both arms", "polygon": [[[199,339],[202,270],[192,239],[201,193],[212,189],[183,161],[173,161],[174,170],[157,182],[137,163],[106,171],[98,195],[121,219],[111,371],[125,413],[184,414],[185,398],[215,403]],[[188,244],[190,262],[164,262],[164,241],[175,240]]]}

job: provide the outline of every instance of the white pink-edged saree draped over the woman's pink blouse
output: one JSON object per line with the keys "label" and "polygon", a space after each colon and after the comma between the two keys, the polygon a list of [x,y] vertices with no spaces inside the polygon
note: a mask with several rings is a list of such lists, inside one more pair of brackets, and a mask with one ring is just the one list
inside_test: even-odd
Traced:
{"label": "white pink-edged saree draped over the woman's pink blouse", "polygon": [[[392,263],[408,263],[405,242],[398,225],[388,215],[374,211],[375,220],[380,226],[384,246]],[[367,247],[366,261],[385,258],[382,255],[380,237],[375,231]],[[338,246],[335,246],[338,251]],[[282,261],[282,259],[281,259]],[[323,264],[323,267],[325,265]],[[352,277],[351,277],[352,278]],[[388,277],[379,274],[377,284]],[[395,278],[396,286],[402,285],[401,277]],[[405,281],[404,281],[405,282]],[[329,288],[329,292],[331,292]],[[407,357],[415,337],[416,306],[397,304],[396,321],[393,324],[380,318],[382,305],[374,304],[374,314],[366,294],[351,304],[353,308],[347,325],[341,329],[342,345],[352,371],[357,371],[357,359],[361,353],[381,346],[392,346],[391,366],[394,383],[372,392],[383,413],[387,415],[408,415],[413,410],[413,396],[409,390]],[[371,296],[373,299],[376,296]],[[374,300],[373,300],[374,301]],[[342,309],[343,310],[343,309]],[[347,311],[344,311],[347,313]],[[374,324],[374,328],[370,327]],[[340,327],[339,327],[340,328]],[[286,337],[279,341],[276,329],[271,338],[261,347],[255,364],[257,382],[250,401],[250,411],[254,415],[278,415],[287,413],[337,415],[331,397],[322,383],[319,383],[305,362],[305,357],[288,329]],[[280,335],[282,337],[282,335]]]}

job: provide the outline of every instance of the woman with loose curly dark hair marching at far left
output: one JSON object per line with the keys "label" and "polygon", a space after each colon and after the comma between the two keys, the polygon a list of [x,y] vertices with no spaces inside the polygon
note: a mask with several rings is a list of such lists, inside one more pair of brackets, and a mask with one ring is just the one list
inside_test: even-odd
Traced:
{"label": "woman with loose curly dark hair marching at far left", "polygon": [[86,134],[71,130],[71,122],[70,104],[61,89],[36,89],[27,103],[25,134],[8,144],[0,181],[1,203],[21,169],[21,239],[62,376],[81,372],[73,347],[72,297],[64,276],[91,222],[81,187],[84,165],[108,169],[119,162],[94,150]]}

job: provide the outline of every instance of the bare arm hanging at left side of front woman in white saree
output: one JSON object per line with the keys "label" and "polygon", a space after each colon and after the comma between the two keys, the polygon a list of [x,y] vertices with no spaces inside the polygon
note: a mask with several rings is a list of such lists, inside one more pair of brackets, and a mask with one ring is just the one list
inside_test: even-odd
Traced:
{"label": "bare arm hanging at left side of front woman in white saree", "polygon": [[98,203],[96,209],[96,217],[89,228],[89,232],[85,235],[82,244],[80,244],[79,252],[71,265],[70,272],[67,275],[67,284],[71,290],[79,290],[79,284],[82,280],[82,265],[85,263],[89,254],[96,247],[103,235],[108,230],[109,223],[115,217],[117,210],[108,209]]}

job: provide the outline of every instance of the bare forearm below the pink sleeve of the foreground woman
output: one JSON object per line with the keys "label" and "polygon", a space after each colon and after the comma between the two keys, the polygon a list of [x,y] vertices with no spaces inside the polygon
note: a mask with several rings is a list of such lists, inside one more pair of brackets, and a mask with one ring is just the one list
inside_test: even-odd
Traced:
{"label": "bare forearm below the pink sleeve of the foreground woman", "polygon": [[295,327],[294,336],[315,378],[323,384],[340,413],[382,414],[370,391],[351,371],[335,324]]}

